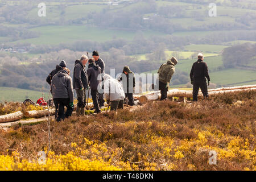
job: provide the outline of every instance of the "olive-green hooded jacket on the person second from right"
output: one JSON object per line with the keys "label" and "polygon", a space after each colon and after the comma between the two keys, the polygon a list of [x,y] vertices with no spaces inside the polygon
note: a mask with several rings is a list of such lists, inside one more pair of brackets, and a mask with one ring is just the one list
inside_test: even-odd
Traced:
{"label": "olive-green hooded jacket on the person second from right", "polygon": [[167,63],[161,65],[158,70],[158,78],[160,82],[167,84],[167,82],[171,81],[172,75],[175,72],[175,64],[172,63],[171,60],[168,60]]}

